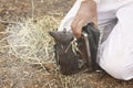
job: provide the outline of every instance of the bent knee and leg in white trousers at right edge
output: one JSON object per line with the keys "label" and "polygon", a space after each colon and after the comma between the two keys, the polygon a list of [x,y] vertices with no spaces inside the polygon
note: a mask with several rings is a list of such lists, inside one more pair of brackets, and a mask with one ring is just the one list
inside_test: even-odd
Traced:
{"label": "bent knee and leg in white trousers at right edge", "polygon": [[120,3],[115,14],[119,21],[100,46],[100,66],[111,76],[129,80],[133,78],[133,1]]}

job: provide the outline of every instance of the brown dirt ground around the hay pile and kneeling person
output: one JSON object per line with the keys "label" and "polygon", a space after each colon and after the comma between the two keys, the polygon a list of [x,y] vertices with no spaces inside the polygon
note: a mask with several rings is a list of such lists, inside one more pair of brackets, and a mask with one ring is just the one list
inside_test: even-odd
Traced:
{"label": "brown dirt ground around the hay pile and kneeling person", "polygon": [[[31,18],[31,1],[0,0],[0,21]],[[34,0],[34,16],[62,16],[59,13],[64,15],[73,2],[74,0]],[[0,32],[7,25],[0,22]],[[0,40],[1,37],[0,34]],[[0,88],[133,88],[133,80],[116,80],[102,73],[80,73],[68,77],[57,72],[45,74],[40,66],[30,65],[14,56],[9,58],[7,52],[0,52]]]}

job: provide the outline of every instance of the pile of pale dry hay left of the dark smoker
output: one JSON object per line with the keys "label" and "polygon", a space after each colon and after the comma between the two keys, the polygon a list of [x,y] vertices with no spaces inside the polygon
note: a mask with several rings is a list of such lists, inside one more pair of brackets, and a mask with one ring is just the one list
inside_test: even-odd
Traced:
{"label": "pile of pale dry hay left of the dark smoker", "polygon": [[[1,32],[8,35],[0,40],[0,52],[9,48],[9,54],[30,64],[54,63],[53,40],[49,31],[57,29],[59,22],[60,19],[52,15],[10,22],[6,32]],[[8,45],[3,44],[4,41]]]}

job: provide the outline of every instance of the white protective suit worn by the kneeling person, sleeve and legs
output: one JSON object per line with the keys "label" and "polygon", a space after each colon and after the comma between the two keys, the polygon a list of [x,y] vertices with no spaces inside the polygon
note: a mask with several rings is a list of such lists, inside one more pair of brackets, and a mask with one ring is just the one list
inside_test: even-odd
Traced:
{"label": "white protective suit worn by the kneeling person, sleeve and legs", "polygon": [[[114,78],[130,80],[133,78],[133,0],[100,0],[96,3],[102,37],[98,63]],[[63,28],[71,31],[71,22],[80,4],[81,0],[76,0],[59,31]]]}

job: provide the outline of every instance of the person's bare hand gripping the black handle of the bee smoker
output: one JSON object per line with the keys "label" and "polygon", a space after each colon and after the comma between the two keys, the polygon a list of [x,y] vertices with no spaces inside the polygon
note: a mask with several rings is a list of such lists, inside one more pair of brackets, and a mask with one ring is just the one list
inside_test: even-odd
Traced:
{"label": "person's bare hand gripping the black handle of the bee smoker", "polygon": [[72,31],[76,37],[81,36],[82,28],[90,22],[96,24],[96,3],[93,0],[86,0],[81,7],[71,24]]}

